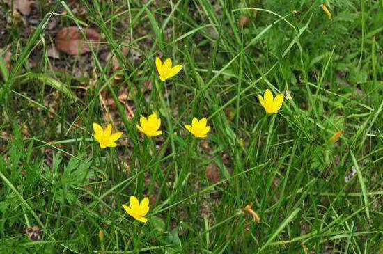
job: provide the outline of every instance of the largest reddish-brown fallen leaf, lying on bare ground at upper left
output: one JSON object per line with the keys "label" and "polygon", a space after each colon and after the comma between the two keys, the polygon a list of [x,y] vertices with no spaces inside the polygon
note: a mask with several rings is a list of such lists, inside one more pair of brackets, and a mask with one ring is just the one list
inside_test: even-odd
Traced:
{"label": "largest reddish-brown fallen leaf, lying on bare ground at upper left", "polygon": [[82,29],[82,31],[84,31],[86,40],[77,26],[65,27],[58,31],[56,35],[57,49],[70,55],[85,54],[91,51],[89,42],[98,42],[100,34],[94,29]]}

